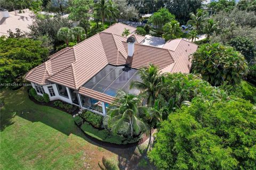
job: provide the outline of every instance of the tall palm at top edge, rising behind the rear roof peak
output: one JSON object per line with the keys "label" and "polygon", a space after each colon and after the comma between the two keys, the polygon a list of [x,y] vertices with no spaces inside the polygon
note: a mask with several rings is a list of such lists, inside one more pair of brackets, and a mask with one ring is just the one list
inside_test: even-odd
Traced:
{"label": "tall palm at top edge, rising behind the rear roof peak", "polygon": [[105,18],[111,17],[111,7],[106,0],[100,0],[97,4],[95,4],[95,11],[97,11],[98,15],[101,16],[102,19],[102,27],[104,27]]}

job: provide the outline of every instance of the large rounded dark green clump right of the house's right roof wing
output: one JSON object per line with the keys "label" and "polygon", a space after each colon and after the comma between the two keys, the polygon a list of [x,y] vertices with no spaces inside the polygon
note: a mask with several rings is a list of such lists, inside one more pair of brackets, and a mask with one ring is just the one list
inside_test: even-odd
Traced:
{"label": "large rounded dark green clump right of the house's right roof wing", "polygon": [[244,56],[233,47],[205,44],[193,54],[194,73],[202,74],[202,78],[214,86],[220,86],[223,81],[239,82],[246,69]]}

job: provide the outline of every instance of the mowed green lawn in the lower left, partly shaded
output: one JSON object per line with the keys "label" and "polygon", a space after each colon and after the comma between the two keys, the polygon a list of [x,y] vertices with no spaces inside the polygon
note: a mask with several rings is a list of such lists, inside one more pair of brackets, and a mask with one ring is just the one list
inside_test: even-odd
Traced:
{"label": "mowed green lawn in the lower left, partly shaded", "polygon": [[71,115],[33,103],[27,89],[2,90],[0,169],[99,169],[103,155]]}

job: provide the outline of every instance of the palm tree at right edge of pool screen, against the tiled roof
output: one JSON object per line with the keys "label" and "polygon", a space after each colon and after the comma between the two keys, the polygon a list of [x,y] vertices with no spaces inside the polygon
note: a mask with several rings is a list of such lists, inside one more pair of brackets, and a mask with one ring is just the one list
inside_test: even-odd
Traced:
{"label": "palm tree at right edge of pool screen, against the tiled roof", "polygon": [[152,106],[161,90],[162,77],[157,66],[149,64],[138,71],[141,81],[133,81],[130,88],[137,88],[147,95],[147,104]]}

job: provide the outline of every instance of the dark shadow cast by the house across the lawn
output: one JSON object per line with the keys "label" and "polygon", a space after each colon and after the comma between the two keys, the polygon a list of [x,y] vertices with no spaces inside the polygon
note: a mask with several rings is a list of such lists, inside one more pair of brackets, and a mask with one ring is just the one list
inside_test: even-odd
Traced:
{"label": "dark shadow cast by the house across the lawn", "polygon": [[99,142],[95,141],[94,138],[87,137],[75,125],[71,115],[49,106],[35,104],[28,98],[26,89],[10,92],[3,96],[8,101],[9,107],[3,108],[4,114],[1,114],[1,131],[14,123],[12,118],[16,115],[30,122],[42,122],[66,135],[75,134],[92,145],[117,154],[120,169],[153,169],[151,165],[138,167],[140,160],[145,157],[145,154],[141,154],[140,151],[138,152],[138,146],[131,145],[129,148],[122,146],[116,147],[116,145],[111,145],[111,143]]}

